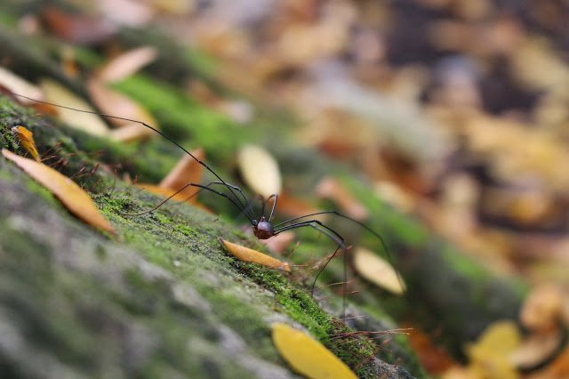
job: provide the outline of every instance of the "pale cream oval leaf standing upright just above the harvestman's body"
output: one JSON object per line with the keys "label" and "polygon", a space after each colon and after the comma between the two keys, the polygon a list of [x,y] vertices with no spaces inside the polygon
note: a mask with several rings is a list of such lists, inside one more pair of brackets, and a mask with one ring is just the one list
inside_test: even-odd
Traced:
{"label": "pale cream oval leaf standing upright just above the harvestman's body", "polygon": [[259,146],[245,145],[237,154],[245,183],[264,198],[281,191],[281,173],[274,157]]}

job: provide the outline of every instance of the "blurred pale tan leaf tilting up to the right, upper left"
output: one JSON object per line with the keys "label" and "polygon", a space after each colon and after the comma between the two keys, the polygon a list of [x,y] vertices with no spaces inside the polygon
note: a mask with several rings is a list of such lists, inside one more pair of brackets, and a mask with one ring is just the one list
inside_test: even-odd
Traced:
{"label": "blurred pale tan leaf tilting up to the right, upper left", "polygon": [[153,46],[142,46],[124,52],[108,63],[99,71],[97,77],[101,82],[114,83],[132,76],[144,66],[156,60],[158,51]]}

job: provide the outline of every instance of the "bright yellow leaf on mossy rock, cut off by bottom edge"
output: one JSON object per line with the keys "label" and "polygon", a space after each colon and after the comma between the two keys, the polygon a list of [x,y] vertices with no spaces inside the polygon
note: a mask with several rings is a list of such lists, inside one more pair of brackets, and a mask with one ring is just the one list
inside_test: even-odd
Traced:
{"label": "bright yellow leaf on mossy rock, cut off by bottom edge", "polygon": [[312,379],[357,378],[321,343],[286,324],[273,325],[273,343],[284,360],[301,375]]}

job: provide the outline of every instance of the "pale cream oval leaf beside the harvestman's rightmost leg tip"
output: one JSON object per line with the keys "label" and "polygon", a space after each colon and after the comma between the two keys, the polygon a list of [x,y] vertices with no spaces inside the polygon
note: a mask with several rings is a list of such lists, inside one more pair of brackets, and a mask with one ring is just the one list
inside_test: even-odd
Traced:
{"label": "pale cream oval leaf beside the harvestman's rightmost leg tip", "polygon": [[405,292],[403,278],[397,275],[397,271],[388,262],[373,254],[373,252],[363,247],[358,247],[354,252],[354,265],[361,277],[377,286],[381,286],[381,288],[387,289],[393,294],[403,294]]}

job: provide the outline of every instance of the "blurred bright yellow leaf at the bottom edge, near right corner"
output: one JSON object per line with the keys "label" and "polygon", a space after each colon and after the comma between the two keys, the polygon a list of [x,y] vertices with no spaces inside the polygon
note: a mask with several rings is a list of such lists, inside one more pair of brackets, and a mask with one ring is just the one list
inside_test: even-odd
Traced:
{"label": "blurred bright yellow leaf at the bottom edge, near right corner", "polygon": [[494,322],[486,328],[477,343],[467,347],[470,367],[480,377],[517,379],[519,375],[509,356],[520,343],[521,336],[514,321]]}

